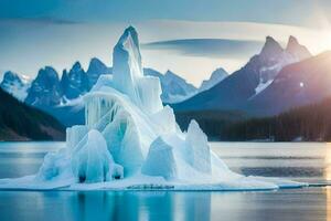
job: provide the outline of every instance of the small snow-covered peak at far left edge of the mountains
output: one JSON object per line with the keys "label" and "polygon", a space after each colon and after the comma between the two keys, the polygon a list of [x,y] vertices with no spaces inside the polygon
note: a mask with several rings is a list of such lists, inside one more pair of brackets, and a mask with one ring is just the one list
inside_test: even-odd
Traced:
{"label": "small snow-covered peak at far left edge of the mountains", "polygon": [[30,80],[24,75],[19,75],[17,73],[8,71],[3,75],[0,87],[19,101],[23,102],[28,96]]}

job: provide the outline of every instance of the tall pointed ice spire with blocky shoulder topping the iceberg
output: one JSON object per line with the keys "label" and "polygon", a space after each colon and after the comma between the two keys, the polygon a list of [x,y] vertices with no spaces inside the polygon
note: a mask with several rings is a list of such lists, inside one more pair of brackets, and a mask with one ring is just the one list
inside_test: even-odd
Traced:
{"label": "tall pointed ice spire with blocky shoulder topping the iceberg", "polygon": [[125,30],[113,52],[114,87],[126,94],[147,112],[162,107],[161,86],[157,77],[143,76],[138,33],[134,27]]}

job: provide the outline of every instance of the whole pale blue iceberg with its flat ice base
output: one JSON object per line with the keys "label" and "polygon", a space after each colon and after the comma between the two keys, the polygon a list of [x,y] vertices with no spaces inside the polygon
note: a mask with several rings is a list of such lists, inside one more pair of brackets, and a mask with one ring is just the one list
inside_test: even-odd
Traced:
{"label": "whole pale blue iceberg with its flat ice base", "polygon": [[159,78],[145,76],[138,34],[125,30],[102,75],[84,97],[85,125],[66,131],[66,148],[45,156],[34,176],[0,180],[0,189],[271,190],[290,180],[231,171],[192,120],[181,131],[160,99]]}

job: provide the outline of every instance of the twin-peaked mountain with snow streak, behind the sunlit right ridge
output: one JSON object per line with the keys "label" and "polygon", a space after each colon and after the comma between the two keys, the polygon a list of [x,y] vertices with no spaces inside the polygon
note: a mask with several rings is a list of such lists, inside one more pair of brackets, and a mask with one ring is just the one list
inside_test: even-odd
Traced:
{"label": "twin-peaked mountain with snow streak, behind the sunlit right ridge", "polygon": [[[271,36],[266,38],[259,54],[254,55],[241,70],[234,72],[214,87],[173,105],[175,109],[238,109],[266,90],[279,71],[288,64],[310,56],[308,50],[290,36],[287,49]],[[298,51],[297,51],[298,50]]]}

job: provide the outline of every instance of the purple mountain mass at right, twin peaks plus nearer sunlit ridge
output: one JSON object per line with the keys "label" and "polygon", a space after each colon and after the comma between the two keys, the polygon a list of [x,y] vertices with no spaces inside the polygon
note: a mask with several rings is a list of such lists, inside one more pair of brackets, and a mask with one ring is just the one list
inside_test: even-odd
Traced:
{"label": "purple mountain mass at right, twin peaks plus nearer sunlit ridge", "polygon": [[319,84],[330,84],[328,59],[328,53],[312,56],[293,36],[285,49],[267,36],[260,53],[241,70],[210,90],[172,106],[178,112],[236,109],[254,116],[279,114],[331,95],[330,90],[317,88]]}

